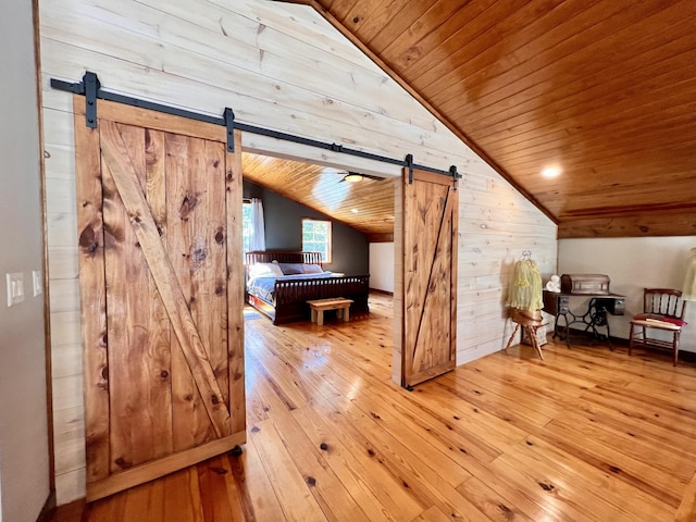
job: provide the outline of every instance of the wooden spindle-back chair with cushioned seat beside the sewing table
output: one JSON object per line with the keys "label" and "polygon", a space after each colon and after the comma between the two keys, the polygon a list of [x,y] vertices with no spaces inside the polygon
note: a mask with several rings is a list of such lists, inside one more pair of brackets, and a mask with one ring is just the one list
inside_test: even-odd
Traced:
{"label": "wooden spindle-back chair with cushioned seat beside the sewing table", "polygon": [[[682,293],[670,288],[646,288],[643,293],[643,313],[635,315],[631,321],[629,334],[629,356],[634,346],[667,348],[674,353],[674,362],[679,358],[679,337],[684,321],[684,308],[686,302],[682,300]],[[651,331],[664,332],[662,337],[655,337]],[[651,334],[651,335],[649,335]],[[667,339],[671,337],[671,339]]]}

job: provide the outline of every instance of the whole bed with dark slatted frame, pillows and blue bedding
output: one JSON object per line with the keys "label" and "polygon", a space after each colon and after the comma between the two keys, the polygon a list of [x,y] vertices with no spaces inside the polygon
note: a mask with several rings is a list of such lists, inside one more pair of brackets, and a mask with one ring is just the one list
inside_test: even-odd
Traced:
{"label": "whole bed with dark slatted frame, pillows and blue bedding", "polygon": [[309,321],[311,299],[345,297],[351,315],[370,311],[370,276],[326,272],[320,252],[247,252],[246,282],[249,304],[273,324]]}

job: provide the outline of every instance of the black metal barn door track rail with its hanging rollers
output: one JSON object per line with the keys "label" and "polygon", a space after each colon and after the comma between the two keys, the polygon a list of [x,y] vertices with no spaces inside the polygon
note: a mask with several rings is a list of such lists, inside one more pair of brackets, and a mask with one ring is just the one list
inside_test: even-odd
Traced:
{"label": "black metal barn door track rail with its hanging rollers", "polygon": [[455,190],[461,174],[457,172],[457,166],[451,165],[448,171],[435,169],[426,165],[419,165],[413,162],[413,156],[407,154],[406,159],[398,160],[395,158],[387,158],[385,156],[373,154],[371,152],[364,152],[358,149],[350,149],[338,144],[328,144],[325,141],[319,141],[316,139],[304,138],[302,136],[296,136],[288,133],[282,133],[279,130],[273,130],[270,128],[258,127],[256,125],[249,125],[240,123],[235,120],[234,111],[229,108],[225,108],[223,116],[210,116],[208,114],[201,114],[198,112],[187,111],[176,107],[164,105],[162,103],[156,103],[153,101],[141,100],[130,96],[124,96],[116,92],[110,92],[101,88],[101,83],[96,73],[90,71],[85,72],[82,82],[64,82],[62,79],[51,78],[51,87],[58,90],[64,90],[73,92],[75,95],[82,95],[85,97],[85,125],[90,128],[97,127],[97,100],[114,101],[116,103],[123,103],[126,105],[138,107],[141,109],[148,109],[151,111],[162,112],[164,114],[171,114],[174,116],[182,116],[189,120],[196,120],[198,122],[212,123],[213,125],[222,125],[227,129],[227,151],[234,152],[234,130],[239,129],[245,133],[258,134],[261,136],[268,136],[271,138],[283,139],[285,141],[293,141],[295,144],[315,147],[318,149],[331,150],[333,152],[340,152],[348,156],[356,156],[368,160],[380,161],[383,163],[389,163],[393,165],[399,165],[408,167],[409,170],[409,184],[413,183],[413,170],[421,170],[432,172],[434,174],[442,174],[452,178]]}

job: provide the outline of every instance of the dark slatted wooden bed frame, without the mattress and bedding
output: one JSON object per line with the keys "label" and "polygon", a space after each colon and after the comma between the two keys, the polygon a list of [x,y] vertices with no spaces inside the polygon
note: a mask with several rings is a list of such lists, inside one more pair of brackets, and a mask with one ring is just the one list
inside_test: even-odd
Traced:
{"label": "dark slatted wooden bed frame, without the mattress and bedding", "polygon": [[[247,252],[246,277],[249,281],[249,266],[256,263],[303,263],[322,264],[320,252]],[[310,309],[307,301],[345,297],[352,299],[350,314],[369,313],[368,295],[370,293],[370,275],[344,275],[316,279],[276,281],[273,304],[249,294],[249,304],[273,320],[273,324],[291,321],[309,321]]]}

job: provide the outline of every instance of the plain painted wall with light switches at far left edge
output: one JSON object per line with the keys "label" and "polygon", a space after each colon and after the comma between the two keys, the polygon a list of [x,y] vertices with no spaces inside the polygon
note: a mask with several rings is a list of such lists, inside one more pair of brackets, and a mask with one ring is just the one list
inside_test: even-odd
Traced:
{"label": "plain painted wall with light switches at far left edge", "polygon": [[[0,16],[0,520],[36,521],[49,496],[38,109],[32,2]],[[5,274],[23,272],[25,301],[7,306]]]}

